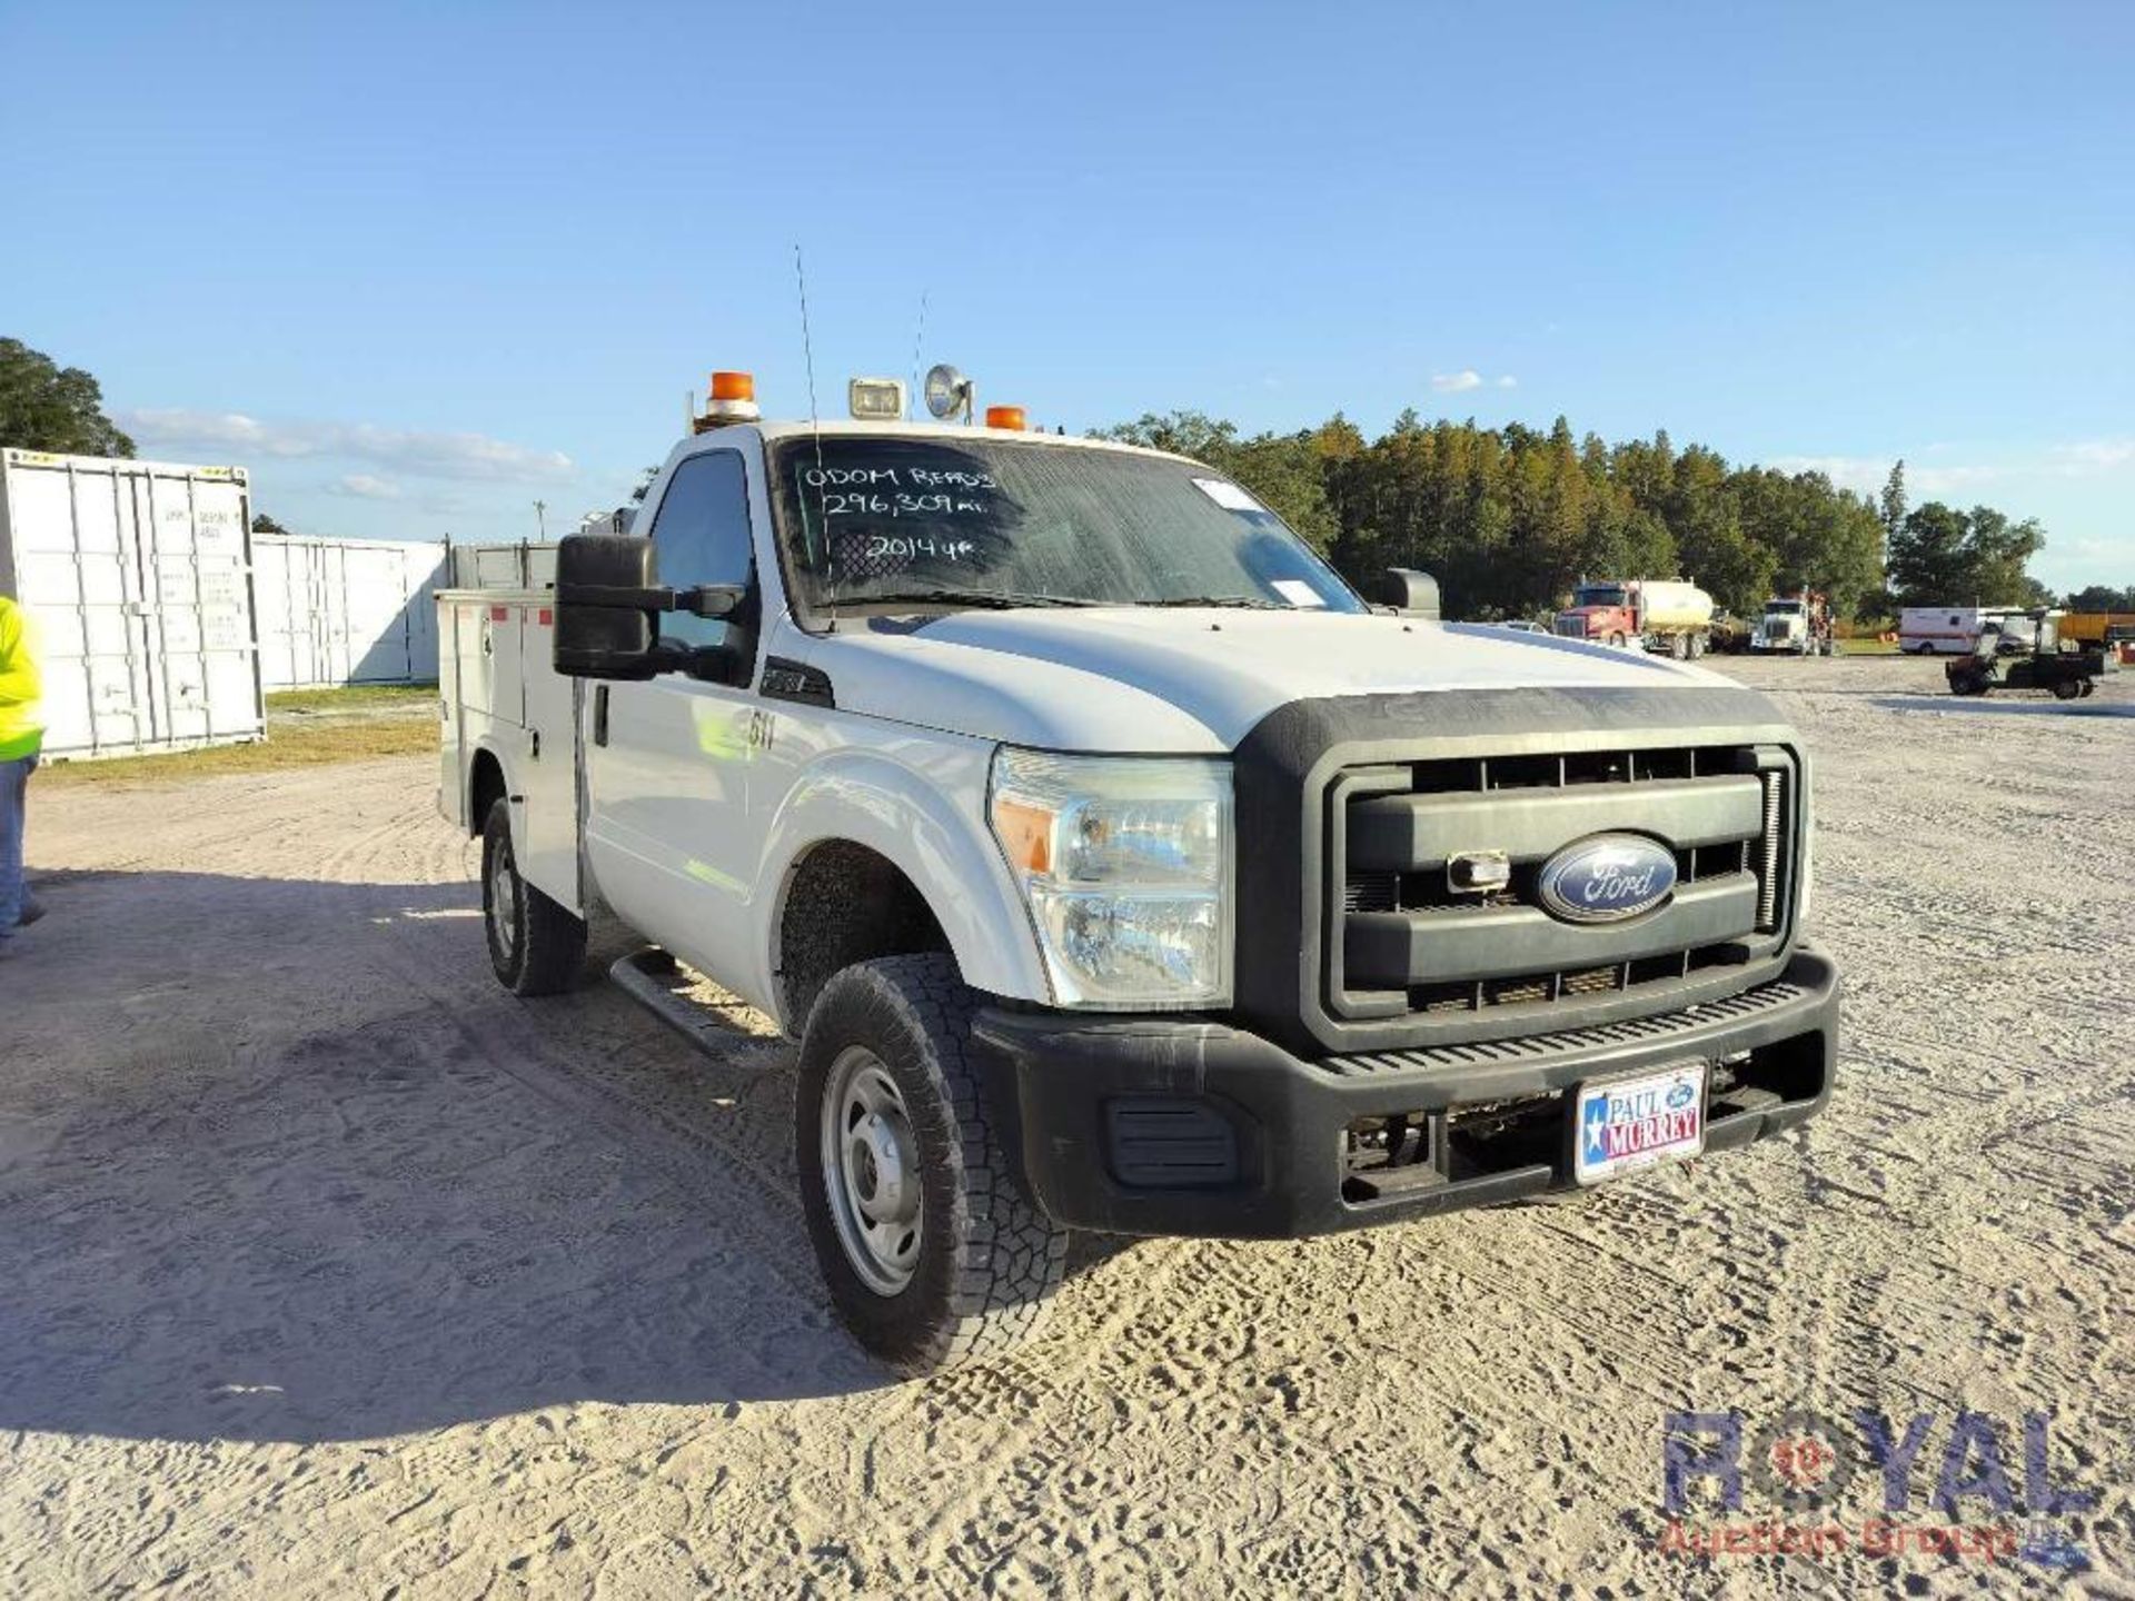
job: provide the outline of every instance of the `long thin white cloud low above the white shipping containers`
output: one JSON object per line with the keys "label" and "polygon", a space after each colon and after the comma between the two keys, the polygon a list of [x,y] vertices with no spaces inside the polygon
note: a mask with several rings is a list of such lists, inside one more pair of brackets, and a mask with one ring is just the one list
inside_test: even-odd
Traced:
{"label": "long thin white cloud low above the white shipping containers", "polygon": [[429,478],[564,482],[576,476],[576,465],[562,450],[529,450],[487,433],[423,433],[376,423],[260,423],[243,412],[184,408],[126,412],[124,427],[156,446],[233,457],[339,457]]}

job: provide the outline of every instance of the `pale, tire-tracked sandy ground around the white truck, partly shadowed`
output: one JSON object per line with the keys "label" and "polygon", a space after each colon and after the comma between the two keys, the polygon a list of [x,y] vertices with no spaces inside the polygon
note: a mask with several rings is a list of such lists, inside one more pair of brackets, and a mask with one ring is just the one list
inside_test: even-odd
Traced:
{"label": "pale, tire-tracked sandy ground around the white truck, partly shadowed", "polygon": [[[1078,1249],[895,1383],[818,1287],[790,1052],[489,978],[395,758],[32,796],[0,963],[0,1590],[1941,1595],[2028,1563],[1659,1550],[1670,1409],[2052,1411],[2135,1592],[2135,683],[1734,664],[1819,762],[1825,1116],[1580,1206]],[[2135,679],[2135,675],[2129,675]],[[1975,1460],[1977,1467],[1977,1460]],[[1821,1522],[1877,1507],[1872,1475]],[[2007,1524],[1983,1499],[1966,1524]],[[1691,1522],[1749,1526],[1776,1507]]]}

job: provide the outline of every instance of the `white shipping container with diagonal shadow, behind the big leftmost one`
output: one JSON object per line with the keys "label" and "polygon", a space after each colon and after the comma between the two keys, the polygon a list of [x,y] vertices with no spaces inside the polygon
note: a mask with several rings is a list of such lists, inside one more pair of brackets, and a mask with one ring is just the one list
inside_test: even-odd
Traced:
{"label": "white shipping container with diagonal shadow, behind the big leftmost one", "polygon": [[444,564],[438,544],[254,534],[265,685],[436,681]]}

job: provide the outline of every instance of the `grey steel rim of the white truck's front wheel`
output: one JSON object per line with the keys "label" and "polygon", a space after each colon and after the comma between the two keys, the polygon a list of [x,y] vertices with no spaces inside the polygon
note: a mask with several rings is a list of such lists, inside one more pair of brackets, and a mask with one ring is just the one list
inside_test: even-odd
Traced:
{"label": "grey steel rim of the white truck's front wheel", "polygon": [[845,1046],[831,1063],[818,1151],[845,1262],[877,1296],[899,1294],[924,1240],[918,1136],[903,1091],[867,1046]]}

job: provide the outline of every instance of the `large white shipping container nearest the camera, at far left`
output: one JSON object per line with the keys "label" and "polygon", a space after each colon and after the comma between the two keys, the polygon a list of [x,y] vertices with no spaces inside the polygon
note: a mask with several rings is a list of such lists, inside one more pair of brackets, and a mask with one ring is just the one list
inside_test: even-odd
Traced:
{"label": "large white shipping container nearest the camera, at far left", "polygon": [[43,643],[45,754],[260,739],[243,467],[0,450],[0,591]]}

